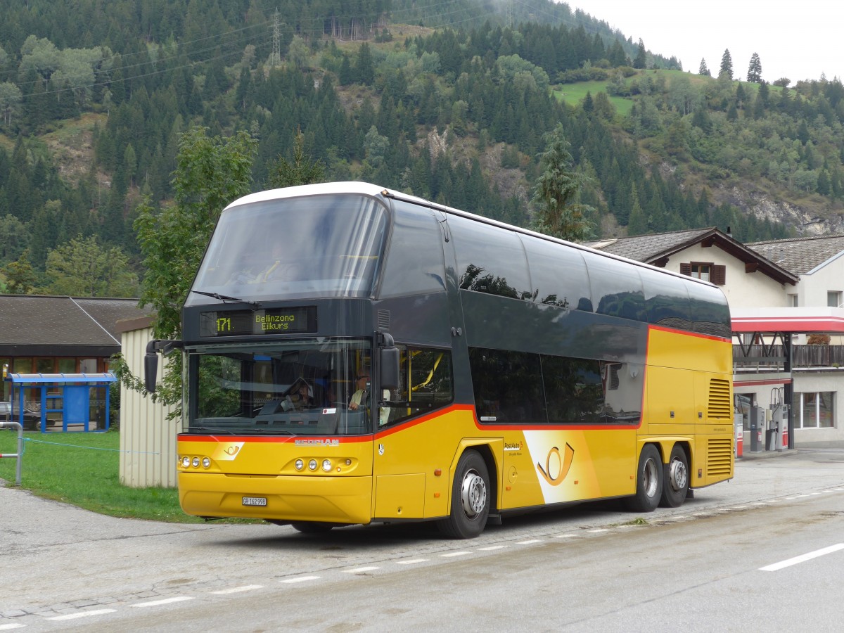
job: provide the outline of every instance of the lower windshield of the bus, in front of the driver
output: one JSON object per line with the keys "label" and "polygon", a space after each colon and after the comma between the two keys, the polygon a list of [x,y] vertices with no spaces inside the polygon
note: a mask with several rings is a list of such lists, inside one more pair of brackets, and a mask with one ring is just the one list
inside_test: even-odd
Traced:
{"label": "lower windshield of the bus, in front of the driver", "polygon": [[[316,338],[188,352],[186,433],[371,432],[371,341]],[[377,406],[377,403],[375,403]]]}

